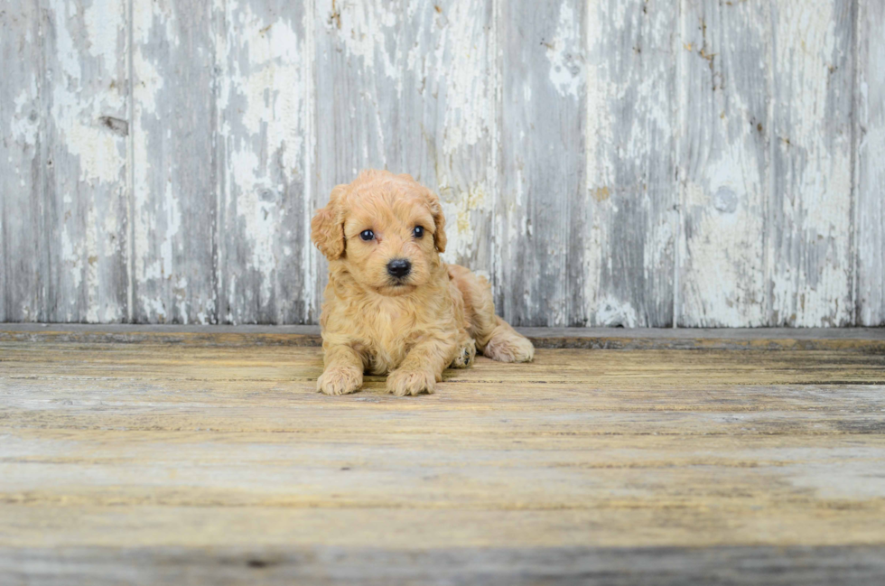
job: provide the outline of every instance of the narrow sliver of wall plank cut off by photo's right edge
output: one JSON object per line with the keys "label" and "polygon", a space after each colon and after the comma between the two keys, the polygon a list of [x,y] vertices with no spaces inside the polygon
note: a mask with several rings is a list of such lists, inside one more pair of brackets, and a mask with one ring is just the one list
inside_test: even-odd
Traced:
{"label": "narrow sliver of wall plank cut off by photo's right edge", "polygon": [[885,4],[860,0],[856,96],[857,325],[885,325]]}

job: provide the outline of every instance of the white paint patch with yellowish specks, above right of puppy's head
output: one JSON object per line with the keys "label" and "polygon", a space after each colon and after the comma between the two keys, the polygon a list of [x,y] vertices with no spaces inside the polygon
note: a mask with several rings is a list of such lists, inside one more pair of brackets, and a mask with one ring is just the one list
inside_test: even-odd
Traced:
{"label": "white paint patch with yellowish specks, above right of puppy's head", "polygon": [[[486,249],[483,240],[491,237],[494,173],[484,165],[489,164],[496,104],[486,10],[481,3],[461,0],[438,5],[438,10],[413,2],[407,13],[416,27],[405,57],[407,72],[419,84],[412,91],[419,104],[438,104],[442,111],[440,121],[424,120],[421,110],[411,116],[426,125],[427,140],[435,147],[432,181],[447,219],[444,258],[452,263],[476,260],[478,250]],[[377,124],[384,127],[380,117]],[[485,255],[479,260],[490,263]]]}

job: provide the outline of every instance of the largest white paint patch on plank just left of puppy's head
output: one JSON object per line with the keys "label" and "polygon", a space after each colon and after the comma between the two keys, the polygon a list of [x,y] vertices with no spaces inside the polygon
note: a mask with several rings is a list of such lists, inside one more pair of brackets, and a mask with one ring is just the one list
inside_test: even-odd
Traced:
{"label": "largest white paint patch on plank just left of puppy's head", "polygon": [[[228,152],[228,215],[236,210],[231,225],[245,238],[236,246],[247,249],[247,268],[258,273],[259,299],[252,301],[265,307],[278,296],[279,267],[286,256],[279,227],[295,211],[284,208],[286,184],[278,181],[278,173],[285,181],[304,181],[306,107],[300,89],[305,84],[305,47],[294,23],[283,18],[265,21],[249,5],[236,3],[227,14],[234,23],[223,45],[227,67],[220,135]],[[266,159],[259,160],[258,152],[265,152]],[[227,294],[231,302],[240,302],[236,289]]]}

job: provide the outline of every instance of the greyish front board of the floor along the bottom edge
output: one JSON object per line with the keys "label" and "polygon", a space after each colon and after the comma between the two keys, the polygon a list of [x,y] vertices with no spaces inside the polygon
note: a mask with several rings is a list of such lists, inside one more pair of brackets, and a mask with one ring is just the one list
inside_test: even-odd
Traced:
{"label": "greyish front board of the floor along the bottom edge", "polygon": [[[340,547],[239,548],[193,551],[178,547],[120,553],[109,547],[0,550],[0,571],[12,584],[488,584],[536,586],[703,586],[759,583],[790,586],[870,584],[885,572],[880,546],[783,547],[489,547],[379,550]],[[150,565],[144,563],[150,560]],[[334,560],[335,563],[330,563]],[[223,567],[224,572],[217,568]],[[57,572],[47,572],[47,569]],[[61,570],[63,568],[63,570]]]}

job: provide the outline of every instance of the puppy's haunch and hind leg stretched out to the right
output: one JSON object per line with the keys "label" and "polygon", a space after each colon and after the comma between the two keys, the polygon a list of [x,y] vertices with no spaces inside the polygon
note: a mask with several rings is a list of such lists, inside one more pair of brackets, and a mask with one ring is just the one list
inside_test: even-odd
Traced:
{"label": "puppy's haunch and hind leg stretched out to the right", "polygon": [[488,281],[459,265],[449,265],[449,278],[461,291],[468,333],[483,356],[499,362],[529,362],[535,358],[532,342],[495,315]]}

